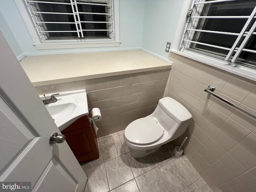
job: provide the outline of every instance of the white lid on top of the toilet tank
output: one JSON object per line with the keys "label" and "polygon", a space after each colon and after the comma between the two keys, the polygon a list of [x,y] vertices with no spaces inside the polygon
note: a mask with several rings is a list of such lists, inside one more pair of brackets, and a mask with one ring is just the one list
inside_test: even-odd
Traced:
{"label": "white lid on top of the toilet tank", "polygon": [[190,112],[173,98],[164,97],[159,100],[158,105],[178,124],[186,124],[192,119]]}

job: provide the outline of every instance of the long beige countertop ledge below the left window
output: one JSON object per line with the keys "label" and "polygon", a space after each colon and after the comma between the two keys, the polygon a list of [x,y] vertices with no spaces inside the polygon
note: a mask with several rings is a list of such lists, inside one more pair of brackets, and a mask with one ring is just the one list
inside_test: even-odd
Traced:
{"label": "long beige countertop ledge below the left window", "polygon": [[20,64],[33,86],[171,68],[141,50],[27,56]]}

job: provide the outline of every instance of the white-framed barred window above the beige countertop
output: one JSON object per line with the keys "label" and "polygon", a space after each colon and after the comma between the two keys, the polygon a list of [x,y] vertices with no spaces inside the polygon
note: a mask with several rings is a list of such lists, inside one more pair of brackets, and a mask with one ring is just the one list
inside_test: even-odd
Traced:
{"label": "white-framed barred window above the beige countertop", "polygon": [[118,2],[24,0],[26,18],[16,0],[37,49],[119,46]]}

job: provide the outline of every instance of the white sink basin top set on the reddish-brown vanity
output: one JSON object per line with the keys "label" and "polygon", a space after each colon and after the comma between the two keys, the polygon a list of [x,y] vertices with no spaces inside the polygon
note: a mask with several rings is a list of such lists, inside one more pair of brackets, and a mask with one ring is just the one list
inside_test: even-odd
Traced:
{"label": "white sink basin top set on the reddish-brown vanity", "polygon": [[[50,98],[50,96],[51,94],[47,94],[46,98]],[[55,97],[58,99],[57,102],[45,106],[60,131],[70,126],[78,118],[88,114],[86,90],[60,92]],[[45,99],[44,96],[40,96],[40,98]]]}

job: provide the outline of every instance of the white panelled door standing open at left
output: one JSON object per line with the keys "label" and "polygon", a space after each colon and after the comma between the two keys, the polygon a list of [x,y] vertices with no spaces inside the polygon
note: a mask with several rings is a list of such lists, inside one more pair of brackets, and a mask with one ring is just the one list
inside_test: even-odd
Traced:
{"label": "white panelled door standing open at left", "polygon": [[[0,182],[31,182],[32,191],[82,192],[87,176],[0,32]],[[1,186],[0,186],[1,191]]]}

